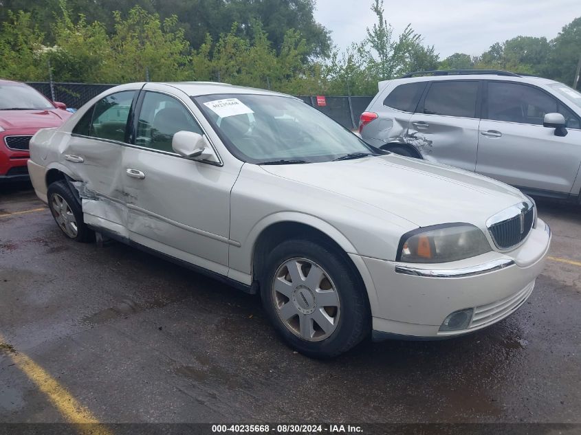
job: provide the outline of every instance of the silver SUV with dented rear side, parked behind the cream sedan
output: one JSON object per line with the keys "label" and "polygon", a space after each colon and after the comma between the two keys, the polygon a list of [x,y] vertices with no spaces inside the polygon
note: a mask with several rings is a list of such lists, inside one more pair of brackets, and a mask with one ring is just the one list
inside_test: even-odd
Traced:
{"label": "silver SUV with dented rear side, parked behind the cream sedan", "polygon": [[507,71],[421,71],[379,83],[360,134],[393,153],[581,201],[581,93]]}

